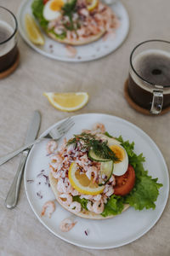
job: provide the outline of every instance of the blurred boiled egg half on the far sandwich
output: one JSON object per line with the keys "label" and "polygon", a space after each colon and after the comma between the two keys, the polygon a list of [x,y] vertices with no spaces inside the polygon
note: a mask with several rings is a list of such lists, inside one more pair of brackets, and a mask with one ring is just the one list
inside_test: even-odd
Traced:
{"label": "blurred boiled egg half on the far sandwich", "polygon": [[43,7],[43,17],[46,20],[55,20],[61,16],[60,10],[67,0],[49,0]]}

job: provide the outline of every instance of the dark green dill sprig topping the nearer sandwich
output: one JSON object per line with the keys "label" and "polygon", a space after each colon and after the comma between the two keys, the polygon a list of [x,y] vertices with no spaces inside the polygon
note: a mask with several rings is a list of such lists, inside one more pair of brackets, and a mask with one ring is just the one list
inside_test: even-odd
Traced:
{"label": "dark green dill sprig topping the nearer sandwich", "polygon": [[116,154],[108,147],[107,141],[102,142],[93,134],[82,132],[80,135],[74,135],[74,137],[68,141],[67,146],[71,144],[75,144],[76,146],[78,141],[83,142],[81,146],[82,150],[89,151],[90,149],[93,149],[94,154],[103,159],[119,161]]}

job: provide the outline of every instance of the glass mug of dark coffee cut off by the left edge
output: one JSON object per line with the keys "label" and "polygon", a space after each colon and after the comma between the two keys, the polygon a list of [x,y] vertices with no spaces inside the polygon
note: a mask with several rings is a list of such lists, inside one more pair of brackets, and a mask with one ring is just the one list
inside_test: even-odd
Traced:
{"label": "glass mug of dark coffee cut off by the left edge", "polygon": [[17,48],[18,25],[14,14],[0,6],[0,73],[14,64]]}

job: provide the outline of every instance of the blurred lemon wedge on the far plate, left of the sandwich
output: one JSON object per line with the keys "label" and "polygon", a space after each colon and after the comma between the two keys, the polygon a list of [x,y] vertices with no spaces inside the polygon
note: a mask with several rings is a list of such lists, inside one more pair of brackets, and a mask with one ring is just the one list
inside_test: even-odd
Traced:
{"label": "blurred lemon wedge on the far plate, left of the sandwich", "polygon": [[31,15],[26,15],[25,17],[26,22],[26,32],[28,37],[30,38],[33,44],[43,45],[44,38],[42,33],[40,32],[35,20],[31,17]]}

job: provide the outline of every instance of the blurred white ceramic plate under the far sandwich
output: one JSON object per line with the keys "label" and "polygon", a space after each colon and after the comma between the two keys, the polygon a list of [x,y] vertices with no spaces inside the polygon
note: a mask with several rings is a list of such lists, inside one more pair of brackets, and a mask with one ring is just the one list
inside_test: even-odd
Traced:
{"label": "blurred white ceramic plate under the far sandwich", "polygon": [[[20,5],[18,13],[20,35],[22,36],[22,38],[24,38],[26,43],[31,46],[31,48],[37,50],[37,52],[42,55],[46,55],[49,58],[53,58],[59,61],[92,61],[110,54],[112,51],[117,49],[127,37],[127,32],[129,29],[129,19],[126,9],[122,5],[122,3],[118,1],[111,6],[111,8],[114,10],[117,17],[119,18],[121,24],[120,27],[116,30],[115,37],[111,36],[105,41],[101,38],[92,44],[77,46],[77,55],[74,58],[69,57],[68,50],[65,48],[64,44],[59,44],[58,42],[55,42],[53,39],[48,38],[44,33],[43,34],[45,38],[45,44],[43,46],[37,46],[31,43],[30,39],[26,34],[25,27],[25,15],[31,15],[32,1],[33,0],[25,0],[22,1]],[[53,48],[51,48],[52,45]]]}

